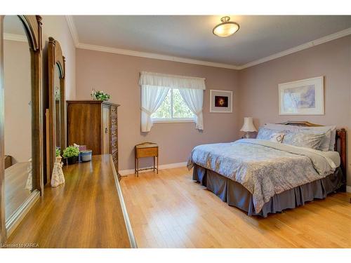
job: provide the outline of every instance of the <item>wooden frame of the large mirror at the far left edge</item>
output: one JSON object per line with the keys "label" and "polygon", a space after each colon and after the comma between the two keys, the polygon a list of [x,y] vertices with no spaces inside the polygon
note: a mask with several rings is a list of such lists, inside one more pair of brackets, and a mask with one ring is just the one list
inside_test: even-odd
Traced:
{"label": "wooden frame of the large mirror at the far left edge", "polygon": [[32,172],[33,191],[8,222],[5,220],[4,166],[4,15],[0,15],[0,243],[15,229],[35,201],[43,194],[43,113],[41,87],[41,16],[18,15],[29,42],[32,72]]}

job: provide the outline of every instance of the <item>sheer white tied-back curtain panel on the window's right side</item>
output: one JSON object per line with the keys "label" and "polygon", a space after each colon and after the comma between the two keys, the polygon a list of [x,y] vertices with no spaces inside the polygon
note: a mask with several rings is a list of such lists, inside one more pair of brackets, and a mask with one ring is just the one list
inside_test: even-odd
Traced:
{"label": "sheer white tied-back curtain panel on the window's right side", "polygon": [[202,103],[204,102],[204,90],[194,88],[180,88],[180,95],[187,107],[195,114],[195,127],[204,130],[204,116],[202,116]]}

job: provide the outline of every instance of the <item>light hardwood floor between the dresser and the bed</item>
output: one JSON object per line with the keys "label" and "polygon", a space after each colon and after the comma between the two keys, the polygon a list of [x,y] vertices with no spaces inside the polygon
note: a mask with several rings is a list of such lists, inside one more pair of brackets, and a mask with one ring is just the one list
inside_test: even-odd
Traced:
{"label": "light hardwood floor between the dresser and the bed", "polygon": [[351,194],[249,217],[192,181],[187,168],[121,180],[139,248],[351,248]]}

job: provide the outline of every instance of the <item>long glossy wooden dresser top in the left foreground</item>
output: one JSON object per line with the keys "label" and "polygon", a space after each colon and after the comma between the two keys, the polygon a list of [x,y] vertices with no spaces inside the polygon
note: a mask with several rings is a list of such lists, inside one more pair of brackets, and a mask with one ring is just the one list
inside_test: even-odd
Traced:
{"label": "long glossy wooden dresser top in the left foreground", "polygon": [[[6,243],[39,248],[135,247],[110,154],[64,166],[65,184],[46,187]],[[126,218],[126,219],[125,219]]]}

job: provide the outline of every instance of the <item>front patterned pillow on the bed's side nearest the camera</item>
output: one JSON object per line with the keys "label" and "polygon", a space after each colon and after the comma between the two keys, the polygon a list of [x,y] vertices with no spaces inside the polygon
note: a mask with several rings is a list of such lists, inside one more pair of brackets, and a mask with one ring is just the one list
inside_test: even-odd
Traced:
{"label": "front patterned pillow on the bed's side nearest the camera", "polygon": [[289,131],[284,136],[283,143],[317,150],[324,136],[321,133],[294,133]]}

